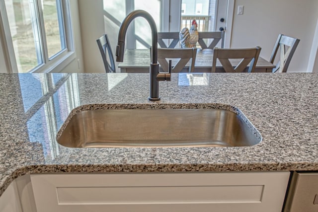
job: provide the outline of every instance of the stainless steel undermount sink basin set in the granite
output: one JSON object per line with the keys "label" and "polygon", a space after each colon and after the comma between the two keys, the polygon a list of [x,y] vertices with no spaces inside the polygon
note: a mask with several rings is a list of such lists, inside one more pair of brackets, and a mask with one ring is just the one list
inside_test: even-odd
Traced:
{"label": "stainless steel undermount sink basin set in the granite", "polygon": [[250,146],[261,140],[244,115],[224,109],[80,111],[57,138],[67,147]]}

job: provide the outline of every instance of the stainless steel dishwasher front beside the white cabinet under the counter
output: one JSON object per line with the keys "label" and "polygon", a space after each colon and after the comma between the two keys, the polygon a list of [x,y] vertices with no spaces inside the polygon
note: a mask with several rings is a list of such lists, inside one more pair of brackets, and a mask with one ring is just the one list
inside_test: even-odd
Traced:
{"label": "stainless steel dishwasher front beside the white cabinet under the counter", "polygon": [[293,172],[284,212],[318,212],[318,172]]}

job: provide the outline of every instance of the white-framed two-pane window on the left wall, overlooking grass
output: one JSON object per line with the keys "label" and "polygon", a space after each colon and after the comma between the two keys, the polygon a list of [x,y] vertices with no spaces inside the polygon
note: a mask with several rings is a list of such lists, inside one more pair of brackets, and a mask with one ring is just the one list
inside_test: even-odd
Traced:
{"label": "white-framed two-pane window on the left wall, overlooking grass", "polygon": [[12,72],[48,72],[73,52],[69,1],[4,0],[1,19]]}

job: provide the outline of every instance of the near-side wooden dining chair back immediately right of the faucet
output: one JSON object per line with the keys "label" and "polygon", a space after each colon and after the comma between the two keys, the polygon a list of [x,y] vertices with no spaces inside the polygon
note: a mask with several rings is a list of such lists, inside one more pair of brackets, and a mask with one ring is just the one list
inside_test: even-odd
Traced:
{"label": "near-side wooden dining chair back immediately right of the faucet", "polygon": [[[150,52],[152,48],[150,48]],[[152,55],[152,54],[151,54]],[[183,48],[183,49],[171,49],[171,48],[158,48],[158,63],[160,69],[164,72],[169,71],[168,60],[172,59],[172,70],[171,72],[180,72],[191,60],[189,66],[189,72],[194,72],[195,58],[197,55],[196,48]],[[176,59],[176,60],[173,60]]]}

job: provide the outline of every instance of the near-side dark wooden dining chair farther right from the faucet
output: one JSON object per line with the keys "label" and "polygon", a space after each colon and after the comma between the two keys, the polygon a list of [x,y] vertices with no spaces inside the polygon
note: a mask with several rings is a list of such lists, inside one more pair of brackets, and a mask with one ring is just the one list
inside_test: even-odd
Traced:
{"label": "near-side dark wooden dining chair farther right from the faucet", "polygon": [[[214,48],[212,72],[216,72],[217,59],[221,62],[226,72],[244,72],[249,65],[247,72],[254,72],[261,48],[259,46],[248,49],[219,49]],[[229,59],[239,59],[236,67],[233,67]]]}

